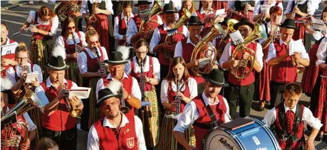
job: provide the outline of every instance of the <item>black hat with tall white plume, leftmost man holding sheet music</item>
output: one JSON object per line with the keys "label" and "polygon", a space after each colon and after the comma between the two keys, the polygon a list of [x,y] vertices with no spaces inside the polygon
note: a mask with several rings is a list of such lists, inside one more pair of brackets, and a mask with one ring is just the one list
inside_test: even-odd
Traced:
{"label": "black hat with tall white plume, leftmost man holding sheet music", "polygon": [[52,58],[45,68],[49,68],[54,71],[63,71],[69,68],[65,63],[66,51],[65,47],[57,46],[52,51]]}

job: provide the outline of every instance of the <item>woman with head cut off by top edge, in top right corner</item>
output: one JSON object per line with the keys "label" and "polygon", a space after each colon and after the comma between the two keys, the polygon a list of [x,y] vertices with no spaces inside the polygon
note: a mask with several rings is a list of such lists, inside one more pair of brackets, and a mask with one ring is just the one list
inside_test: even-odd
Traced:
{"label": "woman with head cut off by top edge, in top right corner", "polygon": [[[286,14],[286,18],[293,18],[295,21],[300,21],[302,17],[315,14],[315,5],[318,5],[318,3],[308,0],[289,1],[284,14]],[[298,29],[293,34],[293,40],[303,39],[302,42],[304,43],[306,27],[302,23],[296,23],[296,27]]]}

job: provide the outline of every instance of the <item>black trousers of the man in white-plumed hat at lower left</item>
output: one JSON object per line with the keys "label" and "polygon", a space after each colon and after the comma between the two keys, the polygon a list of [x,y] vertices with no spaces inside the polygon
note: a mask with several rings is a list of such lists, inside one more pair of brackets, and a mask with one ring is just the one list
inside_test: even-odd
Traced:
{"label": "black trousers of the man in white-plumed hat at lower left", "polygon": [[58,145],[60,150],[76,150],[77,149],[77,128],[67,129],[61,132],[55,132],[51,129],[42,127],[43,137],[51,138]]}

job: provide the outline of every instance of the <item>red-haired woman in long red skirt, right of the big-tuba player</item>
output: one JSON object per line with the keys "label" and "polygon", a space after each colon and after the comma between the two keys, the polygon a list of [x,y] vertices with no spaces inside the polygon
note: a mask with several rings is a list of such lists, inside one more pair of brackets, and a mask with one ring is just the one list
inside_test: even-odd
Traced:
{"label": "red-haired woman in long red skirt, right of the big-tuba player", "polygon": [[[278,38],[276,34],[280,33],[280,18],[282,18],[282,8],[280,6],[273,6],[269,9],[269,18],[271,20],[268,23],[264,23],[262,28],[269,35],[266,40],[260,39],[259,42],[262,45],[263,61],[267,59],[269,44]],[[258,108],[260,111],[264,110],[264,104],[270,101],[270,81],[271,81],[271,66],[267,63],[263,63],[262,71],[256,74],[256,92],[255,99],[259,100]]]}

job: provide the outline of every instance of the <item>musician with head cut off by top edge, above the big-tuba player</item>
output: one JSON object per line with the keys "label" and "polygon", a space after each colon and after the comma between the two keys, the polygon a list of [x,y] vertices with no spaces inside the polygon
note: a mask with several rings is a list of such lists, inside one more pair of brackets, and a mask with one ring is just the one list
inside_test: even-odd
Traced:
{"label": "musician with head cut off by top edge, above the big-tuba player", "polygon": [[232,18],[240,21],[241,18],[248,18],[253,23],[254,6],[259,5],[259,0],[232,0],[228,1],[228,11]]}

